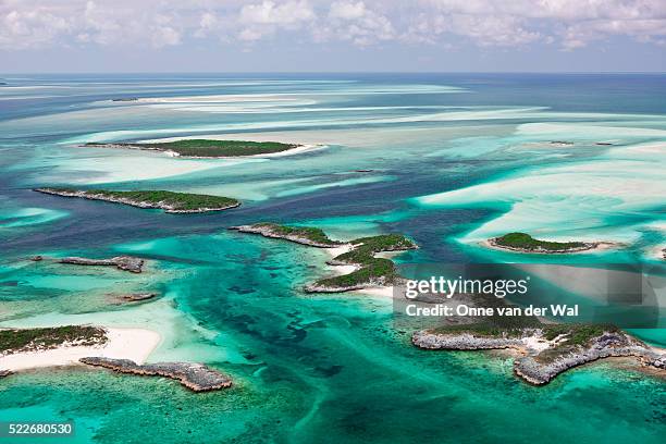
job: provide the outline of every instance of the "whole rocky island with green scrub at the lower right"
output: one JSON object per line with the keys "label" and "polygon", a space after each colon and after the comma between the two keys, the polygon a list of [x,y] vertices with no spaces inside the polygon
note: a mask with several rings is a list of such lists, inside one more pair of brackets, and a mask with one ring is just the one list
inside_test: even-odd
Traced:
{"label": "whole rocky island with green scrub at the lower right", "polygon": [[[476,299],[472,305],[477,306],[510,307],[492,296],[468,297]],[[666,370],[664,350],[610,324],[546,324],[536,317],[499,314],[465,321],[417,331],[411,342],[429,350],[516,350],[519,356],[514,373],[534,385],[546,384],[570,368],[610,357],[633,357],[644,366]]]}

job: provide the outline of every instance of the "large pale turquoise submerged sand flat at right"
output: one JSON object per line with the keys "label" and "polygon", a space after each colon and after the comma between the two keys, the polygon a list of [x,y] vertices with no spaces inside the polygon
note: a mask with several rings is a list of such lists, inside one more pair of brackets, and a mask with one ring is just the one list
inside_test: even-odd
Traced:
{"label": "large pale turquoise submerged sand flat at right", "polygon": [[[577,130],[577,125],[555,127]],[[545,130],[552,131],[552,127],[546,125]],[[534,127],[530,130],[534,131]],[[587,133],[590,127],[581,131],[590,139],[614,135],[613,127],[599,127],[594,133]],[[618,133],[622,134],[621,128]],[[608,226],[605,218],[663,205],[665,157],[664,143],[609,147],[600,158],[526,169],[471,187],[423,196],[417,201],[425,207],[502,205],[509,208],[467,233],[460,239],[464,243],[478,243],[516,231],[550,240],[631,243],[645,226],[643,223],[628,220],[627,224]]]}

